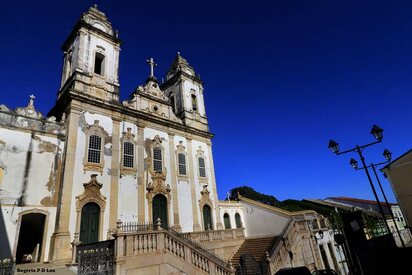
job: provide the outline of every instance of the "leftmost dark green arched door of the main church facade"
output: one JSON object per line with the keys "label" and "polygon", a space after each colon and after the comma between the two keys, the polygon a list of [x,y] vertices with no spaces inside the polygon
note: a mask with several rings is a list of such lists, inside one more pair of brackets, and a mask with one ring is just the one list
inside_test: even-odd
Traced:
{"label": "leftmost dark green arched door of the main church facade", "polygon": [[99,241],[100,207],[93,202],[83,206],[80,223],[80,242],[82,244]]}

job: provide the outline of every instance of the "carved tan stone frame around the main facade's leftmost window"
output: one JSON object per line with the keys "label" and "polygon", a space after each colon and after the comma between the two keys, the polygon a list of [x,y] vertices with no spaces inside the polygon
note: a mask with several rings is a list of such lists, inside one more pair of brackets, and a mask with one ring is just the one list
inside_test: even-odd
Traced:
{"label": "carved tan stone frame around the main facade's leftmost window", "polygon": [[[84,158],[83,158],[83,170],[84,171],[98,171],[100,173],[103,173],[104,144],[105,144],[105,139],[109,137],[109,134],[103,129],[103,127],[99,125],[98,120],[95,120],[93,125],[88,125],[87,123],[85,123],[82,130],[86,134],[86,146],[85,146],[85,153],[84,153]],[[88,160],[90,136],[93,136],[93,135],[101,138],[100,162],[99,163],[89,162]]]}

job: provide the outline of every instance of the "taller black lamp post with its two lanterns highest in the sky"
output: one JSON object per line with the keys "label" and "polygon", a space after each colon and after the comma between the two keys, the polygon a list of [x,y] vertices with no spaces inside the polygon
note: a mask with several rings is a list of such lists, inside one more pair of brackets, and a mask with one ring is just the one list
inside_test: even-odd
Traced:
{"label": "taller black lamp post with its two lanterns highest in the sky", "polygon": [[[334,141],[334,140],[330,140],[330,141],[329,141],[329,146],[328,146],[328,148],[329,148],[333,153],[335,153],[336,155],[342,155],[342,154],[346,154],[346,153],[349,153],[349,152],[358,153],[359,158],[360,158],[360,160],[361,160],[361,162],[362,162],[362,165],[363,165],[363,169],[365,170],[366,176],[368,177],[368,181],[369,181],[369,184],[370,184],[370,186],[371,186],[373,195],[375,196],[376,202],[378,203],[379,211],[380,211],[380,213],[381,213],[381,215],[382,215],[383,221],[385,222],[385,225],[386,225],[386,228],[387,228],[387,230],[388,230],[388,233],[390,233],[391,231],[390,231],[390,229],[389,229],[388,223],[386,222],[386,218],[385,218],[385,214],[384,214],[384,212],[383,212],[383,208],[382,208],[381,202],[380,202],[380,200],[379,200],[379,198],[378,198],[378,194],[376,193],[376,189],[375,189],[375,186],[373,185],[371,175],[369,174],[369,170],[368,170],[368,167],[367,167],[367,165],[366,165],[365,158],[363,157],[363,154],[362,154],[362,151],[363,151],[366,147],[369,147],[369,146],[372,146],[372,145],[374,145],[374,144],[377,144],[377,143],[382,142],[382,139],[383,139],[383,129],[380,128],[378,125],[375,124],[375,125],[373,125],[373,127],[372,127],[371,134],[375,137],[376,141],[371,142],[371,143],[368,143],[368,144],[365,144],[365,145],[356,145],[355,147],[353,147],[353,148],[351,148],[351,149],[348,149],[348,150],[343,151],[343,152],[339,152],[339,144],[338,144],[336,141]],[[353,168],[358,167],[357,161],[356,161],[355,159],[353,159],[353,158],[350,160],[350,165],[351,165]],[[356,168],[355,168],[355,169],[356,169]]]}

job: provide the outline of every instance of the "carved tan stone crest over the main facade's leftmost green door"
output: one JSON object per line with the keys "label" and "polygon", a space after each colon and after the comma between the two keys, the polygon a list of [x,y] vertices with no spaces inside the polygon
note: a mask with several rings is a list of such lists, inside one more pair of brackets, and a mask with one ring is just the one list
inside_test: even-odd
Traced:
{"label": "carved tan stone crest over the main facade's leftmost green door", "polygon": [[97,181],[97,174],[90,176],[90,181],[83,184],[83,194],[76,196],[76,211],[80,212],[86,203],[94,202],[104,211],[106,206],[106,197],[100,193],[103,184]]}

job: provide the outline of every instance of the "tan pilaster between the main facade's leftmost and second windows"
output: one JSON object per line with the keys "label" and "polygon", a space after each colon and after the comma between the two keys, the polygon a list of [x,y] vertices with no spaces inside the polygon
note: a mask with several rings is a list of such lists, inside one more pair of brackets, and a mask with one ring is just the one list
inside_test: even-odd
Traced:
{"label": "tan pilaster between the main facade's leftmost and second windows", "polygon": [[112,162],[110,167],[110,212],[109,228],[115,229],[119,207],[119,172],[120,172],[120,118],[112,118]]}

